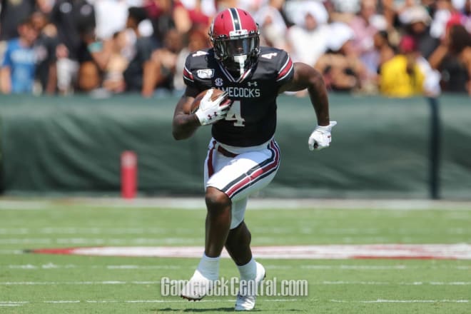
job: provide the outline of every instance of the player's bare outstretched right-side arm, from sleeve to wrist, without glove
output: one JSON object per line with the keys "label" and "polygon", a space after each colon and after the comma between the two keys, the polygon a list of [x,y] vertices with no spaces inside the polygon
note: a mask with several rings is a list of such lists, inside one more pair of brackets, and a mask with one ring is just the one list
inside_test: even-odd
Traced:
{"label": "player's bare outstretched right-side arm, from sleeve to wrist, without glove", "polygon": [[280,93],[302,91],[305,88],[308,88],[310,101],[313,103],[318,118],[318,125],[328,126],[330,123],[329,101],[322,75],[307,64],[295,62],[293,79],[281,86]]}

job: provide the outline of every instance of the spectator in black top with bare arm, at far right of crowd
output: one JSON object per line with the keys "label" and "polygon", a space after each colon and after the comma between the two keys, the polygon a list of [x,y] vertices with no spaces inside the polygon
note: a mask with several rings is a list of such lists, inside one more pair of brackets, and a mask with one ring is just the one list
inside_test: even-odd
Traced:
{"label": "spectator in black top with bare arm, at far right of crowd", "polygon": [[471,35],[464,26],[450,25],[429,61],[442,74],[443,91],[471,95]]}

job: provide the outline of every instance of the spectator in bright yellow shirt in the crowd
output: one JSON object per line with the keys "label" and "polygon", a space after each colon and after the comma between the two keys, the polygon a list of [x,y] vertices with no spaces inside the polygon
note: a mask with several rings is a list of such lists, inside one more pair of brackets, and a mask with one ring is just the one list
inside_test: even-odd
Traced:
{"label": "spectator in bright yellow shirt in the crowd", "polygon": [[417,64],[420,56],[412,36],[403,36],[399,54],[380,68],[380,93],[389,97],[410,97],[423,93],[425,74]]}

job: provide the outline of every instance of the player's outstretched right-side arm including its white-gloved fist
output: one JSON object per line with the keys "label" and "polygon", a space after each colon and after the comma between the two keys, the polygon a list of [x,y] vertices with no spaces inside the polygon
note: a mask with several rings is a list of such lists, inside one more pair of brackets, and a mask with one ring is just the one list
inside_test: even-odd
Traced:
{"label": "player's outstretched right-side arm including its white-gloved fist", "polygon": [[323,77],[307,64],[296,62],[293,66],[293,78],[280,87],[280,93],[283,93],[283,91],[301,91],[308,88],[310,101],[318,118],[318,126],[309,136],[309,149],[313,151],[326,148],[330,146],[330,131],[337,122],[330,121],[329,101]]}

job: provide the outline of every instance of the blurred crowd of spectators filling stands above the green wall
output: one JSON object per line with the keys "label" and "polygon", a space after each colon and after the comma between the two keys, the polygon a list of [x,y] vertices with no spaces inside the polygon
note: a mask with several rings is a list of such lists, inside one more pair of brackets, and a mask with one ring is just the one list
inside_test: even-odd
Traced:
{"label": "blurred crowd of spectators filling stands above the green wall", "polygon": [[181,93],[186,56],[231,6],[330,91],[471,95],[471,0],[1,0],[0,91]]}

